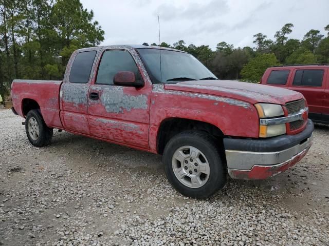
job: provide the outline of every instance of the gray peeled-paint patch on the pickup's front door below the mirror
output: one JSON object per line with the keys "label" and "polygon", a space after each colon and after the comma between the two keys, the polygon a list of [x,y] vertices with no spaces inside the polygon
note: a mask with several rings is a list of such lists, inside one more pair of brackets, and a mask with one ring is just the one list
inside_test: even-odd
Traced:
{"label": "gray peeled-paint patch on the pickup's front door below the mirror", "polygon": [[123,88],[111,87],[104,89],[101,95],[101,102],[107,112],[123,113],[123,110],[130,112],[132,109],[147,109],[148,97],[146,95],[127,95]]}

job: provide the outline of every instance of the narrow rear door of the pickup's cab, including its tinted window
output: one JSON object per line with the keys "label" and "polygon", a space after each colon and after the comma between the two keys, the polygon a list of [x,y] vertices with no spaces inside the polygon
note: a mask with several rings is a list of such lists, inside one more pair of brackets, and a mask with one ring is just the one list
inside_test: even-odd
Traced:
{"label": "narrow rear door of the pickup's cab, including its tinted window", "polygon": [[78,51],[72,55],[60,91],[61,120],[65,130],[90,134],[88,125],[88,91],[90,72],[96,50]]}

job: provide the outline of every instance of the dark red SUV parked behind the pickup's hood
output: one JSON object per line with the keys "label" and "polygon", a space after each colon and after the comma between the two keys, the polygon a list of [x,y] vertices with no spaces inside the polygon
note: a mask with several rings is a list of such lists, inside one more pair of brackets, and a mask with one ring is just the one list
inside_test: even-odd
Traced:
{"label": "dark red SUV parked behind the pickup's hood", "polygon": [[261,84],[298,91],[307,100],[308,117],[329,124],[329,65],[289,65],[268,68]]}

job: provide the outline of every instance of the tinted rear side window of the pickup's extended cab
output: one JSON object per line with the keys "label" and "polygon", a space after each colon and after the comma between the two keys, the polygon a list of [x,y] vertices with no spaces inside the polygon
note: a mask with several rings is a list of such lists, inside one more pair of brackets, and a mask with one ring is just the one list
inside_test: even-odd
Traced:
{"label": "tinted rear side window of the pickup's extended cab", "polygon": [[69,80],[71,83],[88,83],[96,51],[80,52],[74,59]]}

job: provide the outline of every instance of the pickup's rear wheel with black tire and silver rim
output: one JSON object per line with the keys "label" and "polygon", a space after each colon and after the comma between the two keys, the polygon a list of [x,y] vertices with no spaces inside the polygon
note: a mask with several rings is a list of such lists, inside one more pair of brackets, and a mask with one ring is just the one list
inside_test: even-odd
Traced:
{"label": "pickup's rear wheel with black tire and silver rim", "polygon": [[26,115],[25,131],[30,143],[35,147],[43,147],[50,144],[52,128],[47,127],[40,110],[30,110]]}

